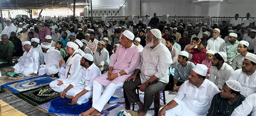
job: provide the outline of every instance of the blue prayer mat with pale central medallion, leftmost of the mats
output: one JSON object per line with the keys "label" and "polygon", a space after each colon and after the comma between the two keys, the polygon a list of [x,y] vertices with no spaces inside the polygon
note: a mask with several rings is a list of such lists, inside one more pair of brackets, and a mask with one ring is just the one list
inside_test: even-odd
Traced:
{"label": "blue prayer mat with pale central medallion, leftmost of the mats", "polygon": [[30,90],[30,89],[42,87],[44,85],[49,85],[50,82],[54,80],[55,78],[52,78],[51,76],[36,76],[36,77],[30,77],[28,79],[23,79],[20,81],[9,82],[7,84],[4,84],[3,87],[5,87],[5,89],[8,89],[13,94],[15,94],[25,90]]}

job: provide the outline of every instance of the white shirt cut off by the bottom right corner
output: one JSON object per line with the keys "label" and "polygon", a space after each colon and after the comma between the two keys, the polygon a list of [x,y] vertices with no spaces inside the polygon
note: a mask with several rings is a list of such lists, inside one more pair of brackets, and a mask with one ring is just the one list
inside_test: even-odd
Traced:
{"label": "white shirt cut off by the bottom right corner", "polygon": [[249,95],[242,102],[241,105],[236,107],[231,116],[247,116],[251,114],[251,116],[256,116],[256,93]]}

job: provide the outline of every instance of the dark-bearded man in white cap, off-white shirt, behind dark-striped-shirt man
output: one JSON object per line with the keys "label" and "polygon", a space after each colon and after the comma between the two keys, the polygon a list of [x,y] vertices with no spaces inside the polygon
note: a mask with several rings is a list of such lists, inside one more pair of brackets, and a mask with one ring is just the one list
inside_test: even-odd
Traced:
{"label": "dark-bearded man in white cap, off-white shirt, behind dark-striped-shirt man", "polygon": [[215,53],[213,60],[211,60],[212,67],[210,68],[209,80],[216,84],[221,90],[222,85],[229,79],[231,73],[234,72],[233,68],[225,63],[227,61],[227,55],[224,52]]}

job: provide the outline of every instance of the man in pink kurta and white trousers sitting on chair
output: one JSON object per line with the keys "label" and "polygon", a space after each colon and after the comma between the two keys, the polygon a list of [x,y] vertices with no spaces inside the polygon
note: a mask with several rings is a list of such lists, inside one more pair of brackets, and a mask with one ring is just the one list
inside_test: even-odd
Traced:
{"label": "man in pink kurta and white trousers sitting on chair", "polygon": [[[96,77],[93,81],[93,105],[92,108],[80,114],[80,116],[100,116],[101,110],[111,98],[116,89],[123,86],[125,80],[130,77],[141,58],[139,48],[133,44],[134,34],[124,31],[115,56],[110,61],[109,71]],[[102,93],[102,86],[107,86]]]}

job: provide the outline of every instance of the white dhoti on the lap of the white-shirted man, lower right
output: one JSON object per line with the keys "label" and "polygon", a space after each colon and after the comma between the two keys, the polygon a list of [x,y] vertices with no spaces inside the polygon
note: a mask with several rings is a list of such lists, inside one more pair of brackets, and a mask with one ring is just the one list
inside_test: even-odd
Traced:
{"label": "white dhoti on the lap of the white-shirted man, lower right", "polygon": [[[176,107],[171,108],[170,110],[166,110],[165,116],[199,116],[190,111],[183,101],[180,102],[181,103],[178,104]],[[162,108],[163,107],[161,107],[159,111],[161,111]],[[186,111],[184,111],[184,109],[186,109]]]}

